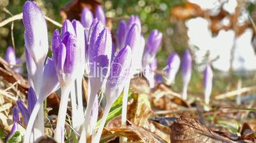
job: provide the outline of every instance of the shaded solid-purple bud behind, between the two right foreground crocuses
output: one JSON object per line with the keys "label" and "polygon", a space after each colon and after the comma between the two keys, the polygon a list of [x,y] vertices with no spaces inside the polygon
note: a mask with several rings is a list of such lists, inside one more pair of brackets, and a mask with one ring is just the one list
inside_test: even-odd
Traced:
{"label": "shaded solid-purple bud behind, between the two right foreground crocuses", "polygon": [[118,49],[121,49],[124,46],[126,33],[127,33],[127,25],[124,20],[121,20],[117,27],[117,34],[116,34]]}

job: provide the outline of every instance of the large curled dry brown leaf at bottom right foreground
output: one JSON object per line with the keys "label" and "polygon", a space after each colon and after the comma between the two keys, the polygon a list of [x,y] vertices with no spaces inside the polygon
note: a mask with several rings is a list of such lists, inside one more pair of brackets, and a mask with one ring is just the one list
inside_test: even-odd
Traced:
{"label": "large curled dry brown leaf at bottom right foreground", "polygon": [[198,121],[181,116],[171,125],[171,142],[234,142],[204,127]]}

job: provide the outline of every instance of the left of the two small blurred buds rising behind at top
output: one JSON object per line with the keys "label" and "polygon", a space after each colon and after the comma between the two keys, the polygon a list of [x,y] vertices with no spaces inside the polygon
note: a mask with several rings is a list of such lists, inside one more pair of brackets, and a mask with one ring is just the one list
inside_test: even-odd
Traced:
{"label": "left of the two small blurred buds rising behind at top", "polygon": [[90,28],[90,25],[92,24],[92,20],[94,17],[92,16],[92,11],[90,11],[89,8],[83,8],[82,14],[81,14],[81,23],[83,27]]}

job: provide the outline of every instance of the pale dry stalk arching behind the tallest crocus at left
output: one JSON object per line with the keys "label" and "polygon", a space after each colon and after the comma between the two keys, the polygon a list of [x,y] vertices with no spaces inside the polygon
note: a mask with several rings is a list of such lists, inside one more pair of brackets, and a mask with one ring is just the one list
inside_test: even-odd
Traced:
{"label": "pale dry stalk arching behind the tallest crocus at left", "polygon": [[[21,20],[22,19],[22,13],[19,13],[17,15],[13,15],[10,18],[4,20],[3,22],[0,23],[0,27],[3,27],[4,25],[13,22],[15,20]],[[45,16],[45,19],[48,20],[48,22],[53,23],[53,25],[56,25],[57,27],[62,27],[62,25],[59,22],[56,22],[54,20],[52,20],[51,18],[49,18],[48,16]]]}

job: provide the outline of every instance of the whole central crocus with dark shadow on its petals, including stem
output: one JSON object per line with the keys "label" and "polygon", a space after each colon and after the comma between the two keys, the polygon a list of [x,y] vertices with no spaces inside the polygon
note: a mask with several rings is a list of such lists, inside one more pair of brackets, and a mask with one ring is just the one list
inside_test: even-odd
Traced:
{"label": "whole central crocus with dark shadow on its petals, including stem", "polygon": [[[83,123],[82,134],[85,134],[89,124],[89,118],[92,113],[92,107],[94,100],[96,99],[97,92],[106,82],[106,78],[110,71],[110,60],[111,60],[111,50],[112,50],[112,40],[110,30],[103,27],[101,22],[94,22],[90,27],[89,32],[89,47],[88,47],[88,61],[89,65],[89,86],[90,86],[90,96],[87,110],[85,113],[85,122]],[[91,88],[93,86],[93,88]],[[85,136],[80,137],[80,142],[86,139]]]}

